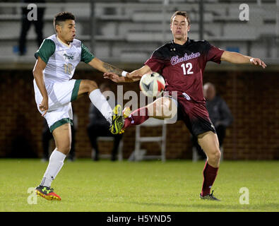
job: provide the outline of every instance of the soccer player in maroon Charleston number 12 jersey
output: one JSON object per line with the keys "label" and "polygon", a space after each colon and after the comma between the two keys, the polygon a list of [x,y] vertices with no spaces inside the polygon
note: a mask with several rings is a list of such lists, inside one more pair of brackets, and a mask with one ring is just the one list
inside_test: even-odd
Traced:
{"label": "soccer player in maroon Charleston number 12 jersey", "polygon": [[[141,69],[133,71],[126,77],[114,73],[104,73],[105,78],[114,82],[133,82],[140,80],[141,76],[156,71],[164,76],[165,91],[169,95],[160,97],[155,102],[141,107],[129,114],[124,109],[124,127],[142,124],[149,117],[166,119],[170,114],[165,109],[174,108],[172,105],[172,92],[177,92],[177,115],[184,121],[189,131],[198,138],[198,143],[207,155],[206,165],[203,169],[203,186],[200,197],[219,201],[210,194],[211,186],[218,173],[220,164],[220,149],[215,128],[208,117],[206,100],[203,97],[203,71],[207,61],[220,64],[227,61],[233,64],[253,64],[266,68],[266,64],[259,58],[244,56],[237,52],[228,52],[214,47],[209,42],[190,40],[190,20],[185,11],[177,11],[170,20],[173,40],[153,52],[152,57],[146,61]],[[159,113],[159,114],[158,114]]]}

